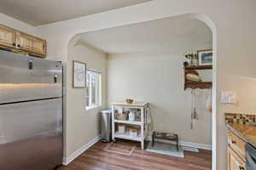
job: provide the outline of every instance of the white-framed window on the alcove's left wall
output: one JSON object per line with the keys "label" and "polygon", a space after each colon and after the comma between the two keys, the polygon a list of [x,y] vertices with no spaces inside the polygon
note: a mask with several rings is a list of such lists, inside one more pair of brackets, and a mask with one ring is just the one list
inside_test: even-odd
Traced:
{"label": "white-framed window on the alcove's left wall", "polygon": [[102,105],[102,74],[96,71],[86,72],[86,110]]}

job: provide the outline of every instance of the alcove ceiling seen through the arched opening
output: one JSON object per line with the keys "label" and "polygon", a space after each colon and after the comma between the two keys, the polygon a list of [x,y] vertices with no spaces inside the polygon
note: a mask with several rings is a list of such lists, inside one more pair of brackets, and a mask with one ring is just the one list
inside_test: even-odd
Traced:
{"label": "alcove ceiling seen through the arched opening", "polygon": [[[200,20],[172,17],[80,34],[80,41],[108,54],[212,48],[212,31]],[[190,51],[191,52],[191,51]]]}

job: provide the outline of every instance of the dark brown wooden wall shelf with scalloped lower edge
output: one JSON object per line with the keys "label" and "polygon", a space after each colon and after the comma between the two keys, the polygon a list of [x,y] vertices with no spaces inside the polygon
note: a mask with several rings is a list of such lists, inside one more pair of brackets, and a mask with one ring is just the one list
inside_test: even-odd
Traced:
{"label": "dark brown wooden wall shelf with scalloped lower edge", "polygon": [[186,75],[189,73],[193,73],[198,75],[197,71],[195,70],[211,70],[212,69],[212,65],[198,65],[198,66],[186,66],[184,67],[184,89],[187,88],[191,88],[191,89],[195,89],[195,88],[212,88],[212,82],[192,82],[192,81],[188,81],[186,79]]}

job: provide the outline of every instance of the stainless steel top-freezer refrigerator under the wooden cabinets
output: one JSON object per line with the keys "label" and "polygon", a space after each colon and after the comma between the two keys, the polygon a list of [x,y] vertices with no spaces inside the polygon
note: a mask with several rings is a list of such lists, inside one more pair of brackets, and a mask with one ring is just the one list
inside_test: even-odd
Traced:
{"label": "stainless steel top-freezer refrigerator under the wooden cabinets", "polygon": [[0,169],[62,162],[61,62],[0,51]]}

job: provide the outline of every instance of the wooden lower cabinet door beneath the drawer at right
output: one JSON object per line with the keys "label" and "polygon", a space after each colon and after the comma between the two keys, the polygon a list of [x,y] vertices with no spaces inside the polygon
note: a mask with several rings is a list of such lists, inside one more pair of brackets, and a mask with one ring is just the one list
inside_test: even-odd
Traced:
{"label": "wooden lower cabinet door beneath the drawer at right", "polygon": [[246,170],[246,163],[230,146],[228,147],[228,170]]}

